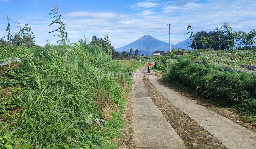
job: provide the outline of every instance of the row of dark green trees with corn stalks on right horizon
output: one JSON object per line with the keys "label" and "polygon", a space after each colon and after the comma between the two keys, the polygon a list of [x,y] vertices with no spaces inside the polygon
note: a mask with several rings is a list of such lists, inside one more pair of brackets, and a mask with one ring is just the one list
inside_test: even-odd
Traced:
{"label": "row of dark green trees with corn stalks on right horizon", "polygon": [[187,42],[192,49],[211,48],[214,50],[239,50],[239,49],[256,49],[254,46],[256,39],[256,30],[250,32],[233,31],[228,23],[216,27],[214,31],[200,31],[193,33],[192,26],[188,24],[185,34],[190,34],[190,41]]}

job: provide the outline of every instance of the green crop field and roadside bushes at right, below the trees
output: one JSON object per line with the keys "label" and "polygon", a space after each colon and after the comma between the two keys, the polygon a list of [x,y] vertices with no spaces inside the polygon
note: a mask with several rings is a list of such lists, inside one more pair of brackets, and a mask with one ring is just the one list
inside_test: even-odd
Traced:
{"label": "green crop field and roadside bushes at right, below the trees", "polygon": [[[211,56],[218,51],[201,51],[207,56],[190,52],[185,56],[173,56],[174,63],[169,65],[169,57],[155,58],[154,69],[165,73],[165,81],[179,84],[181,88],[193,90],[208,101],[233,107],[242,120],[256,125],[256,75],[247,68],[241,71],[228,71],[227,68],[241,68],[241,64],[254,65],[256,54],[226,51]],[[201,64],[195,61],[200,61]],[[167,70],[167,68],[169,68]]]}

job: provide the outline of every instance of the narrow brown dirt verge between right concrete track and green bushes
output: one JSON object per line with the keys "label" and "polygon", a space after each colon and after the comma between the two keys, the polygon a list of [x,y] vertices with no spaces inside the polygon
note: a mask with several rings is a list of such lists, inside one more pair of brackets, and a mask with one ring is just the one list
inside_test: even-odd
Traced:
{"label": "narrow brown dirt verge between right concrete track and green bushes", "polygon": [[[159,73],[157,74],[157,76],[161,78],[161,75]],[[256,132],[256,125],[253,123],[243,121],[239,117],[239,114],[237,112],[235,112],[233,109],[231,109],[229,107],[219,107],[218,105],[209,104],[205,101],[204,98],[202,98],[202,96],[187,93],[187,92],[183,91],[181,88],[177,88],[169,83],[166,83],[163,80],[161,80],[161,82],[162,82],[162,84],[165,84],[165,85],[169,86],[171,89],[175,90],[177,93],[179,93],[183,96],[186,96],[188,99],[196,101],[197,104],[207,107],[208,109],[228,118],[229,120],[234,121],[235,123],[238,123],[239,125],[247,128],[253,132]]]}

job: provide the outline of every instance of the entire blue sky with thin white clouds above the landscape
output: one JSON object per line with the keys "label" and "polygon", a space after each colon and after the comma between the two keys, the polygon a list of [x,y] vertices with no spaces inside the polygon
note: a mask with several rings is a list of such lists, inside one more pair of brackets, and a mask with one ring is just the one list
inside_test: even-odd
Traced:
{"label": "entire blue sky with thin white clouds above the landscape", "polygon": [[[11,31],[17,32],[16,20],[28,21],[36,35],[36,44],[45,45],[48,39],[56,44],[48,32],[48,13],[59,6],[71,42],[82,37],[108,34],[115,48],[129,44],[143,35],[169,41],[166,24],[171,24],[171,43],[187,38],[185,29],[190,23],[194,32],[212,31],[227,22],[235,31],[256,29],[256,0],[0,0],[0,16],[11,19]],[[1,17],[0,17],[1,18]],[[0,19],[0,37],[6,35],[7,22]]]}

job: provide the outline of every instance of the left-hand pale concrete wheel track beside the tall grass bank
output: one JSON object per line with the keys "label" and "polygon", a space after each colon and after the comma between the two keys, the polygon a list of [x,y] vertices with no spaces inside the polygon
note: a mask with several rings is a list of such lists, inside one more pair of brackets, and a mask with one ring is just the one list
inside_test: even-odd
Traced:
{"label": "left-hand pale concrete wheel track beside the tall grass bank", "polygon": [[132,127],[136,148],[186,148],[169,122],[153,103],[142,82],[142,71],[133,76]]}

